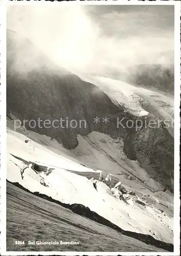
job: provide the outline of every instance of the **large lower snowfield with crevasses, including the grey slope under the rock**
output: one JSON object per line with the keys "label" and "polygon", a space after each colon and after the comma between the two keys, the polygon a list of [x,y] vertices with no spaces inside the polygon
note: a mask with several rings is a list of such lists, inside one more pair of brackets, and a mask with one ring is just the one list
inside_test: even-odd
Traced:
{"label": "large lower snowfield with crevasses, including the grey slope under the rock", "polygon": [[[163,192],[159,183],[150,180],[139,163],[127,159],[108,135],[93,132],[78,136],[78,140],[79,145],[69,151],[47,136],[30,131],[24,135],[8,129],[7,180],[64,203],[83,204],[122,229],[172,243],[173,195]],[[28,167],[22,179],[20,171],[28,162],[41,163],[53,170],[47,175]],[[135,202],[132,196],[127,201],[129,204],[116,199],[100,181],[95,189],[90,178],[97,177],[98,169],[117,176],[145,205]],[[42,185],[42,180],[47,186]]]}

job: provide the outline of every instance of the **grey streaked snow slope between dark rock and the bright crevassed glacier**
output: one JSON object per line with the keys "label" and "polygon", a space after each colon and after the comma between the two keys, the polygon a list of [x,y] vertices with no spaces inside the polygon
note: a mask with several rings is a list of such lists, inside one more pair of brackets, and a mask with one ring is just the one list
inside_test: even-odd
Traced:
{"label": "grey streaked snow slope between dark rock and the bright crevassed glacier", "polygon": [[82,162],[92,168],[116,175],[129,188],[139,187],[151,191],[164,190],[160,183],[152,180],[140,167],[138,161],[129,160],[123,152],[123,141],[92,132],[88,136],[78,135],[79,144],[72,150]]}

